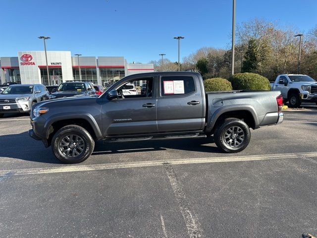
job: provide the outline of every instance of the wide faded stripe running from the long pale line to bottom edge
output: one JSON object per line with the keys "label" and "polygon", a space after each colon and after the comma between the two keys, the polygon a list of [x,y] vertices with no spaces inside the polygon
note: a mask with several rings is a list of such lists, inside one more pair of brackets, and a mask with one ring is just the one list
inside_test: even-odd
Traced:
{"label": "wide faded stripe running from the long pale line to bottom edge", "polygon": [[184,222],[186,224],[187,233],[190,238],[200,238],[202,235],[202,231],[199,228],[199,223],[195,216],[193,215],[192,209],[190,208],[190,202],[186,197],[180,182],[177,180],[176,173],[170,164],[163,164],[164,169],[166,170],[166,174],[170,185],[173,189],[176,201],[178,203],[180,212],[183,216]]}

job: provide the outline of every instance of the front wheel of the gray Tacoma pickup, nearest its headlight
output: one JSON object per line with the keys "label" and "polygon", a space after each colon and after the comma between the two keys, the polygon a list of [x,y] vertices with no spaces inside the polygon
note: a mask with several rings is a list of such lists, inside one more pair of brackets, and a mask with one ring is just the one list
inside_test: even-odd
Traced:
{"label": "front wheel of the gray Tacoma pickup, nearest its headlight", "polygon": [[53,135],[53,154],[58,160],[66,164],[85,161],[94,151],[94,148],[93,137],[79,125],[66,125]]}

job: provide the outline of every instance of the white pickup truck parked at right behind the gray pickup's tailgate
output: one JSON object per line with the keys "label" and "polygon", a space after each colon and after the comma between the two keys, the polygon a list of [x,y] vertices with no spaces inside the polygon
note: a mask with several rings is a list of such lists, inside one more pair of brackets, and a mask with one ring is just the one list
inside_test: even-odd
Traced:
{"label": "white pickup truck parked at right behind the gray pickup's tailgate", "polygon": [[283,101],[297,108],[302,102],[317,104],[317,81],[304,74],[280,74],[271,82],[272,91],[281,91]]}

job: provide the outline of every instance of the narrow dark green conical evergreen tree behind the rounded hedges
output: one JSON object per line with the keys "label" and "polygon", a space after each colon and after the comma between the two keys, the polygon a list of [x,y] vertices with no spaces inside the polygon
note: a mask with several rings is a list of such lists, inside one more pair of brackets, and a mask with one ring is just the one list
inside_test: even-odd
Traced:
{"label": "narrow dark green conical evergreen tree behind the rounded hedges", "polygon": [[244,55],[242,63],[242,72],[257,72],[258,68],[258,50],[255,39],[249,40],[248,50]]}

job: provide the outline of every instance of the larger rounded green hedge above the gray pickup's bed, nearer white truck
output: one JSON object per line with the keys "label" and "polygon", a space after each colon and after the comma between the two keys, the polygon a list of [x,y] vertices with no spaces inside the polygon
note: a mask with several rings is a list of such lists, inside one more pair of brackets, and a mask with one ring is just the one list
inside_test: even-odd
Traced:
{"label": "larger rounded green hedge above the gray pickup's bed, nearer white truck", "polygon": [[234,90],[271,90],[268,79],[257,73],[236,73],[229,81]]}

